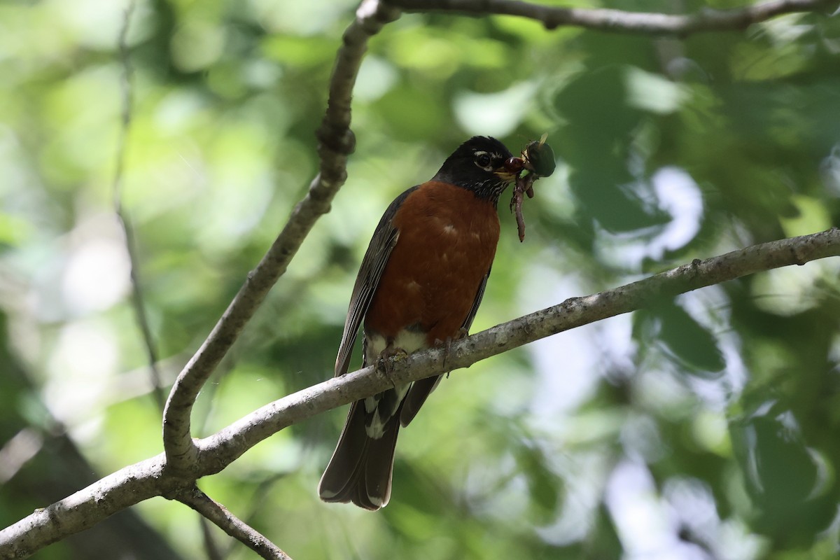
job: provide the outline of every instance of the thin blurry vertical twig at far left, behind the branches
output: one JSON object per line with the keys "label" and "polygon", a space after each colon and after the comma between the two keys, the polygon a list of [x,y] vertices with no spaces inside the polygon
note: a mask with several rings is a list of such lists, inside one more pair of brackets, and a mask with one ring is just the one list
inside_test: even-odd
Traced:
{"label": "thin blurry vertical twig at far left, behind the branches", "polygon": [[114,165],[113,172],[113,209],[117,214],[117,219],[120,225],[123,228],[123,234],[125,236],[125,249],[129,254],[129,266],[131,267],[131,299],[134,304],[134,317],[137,318],[137,324],[140,329],[140,333],[143,336],[143,342],[146,348],[146,355],[149,359],[152,392],[155,395],[155,402],[157,402],[160,411],[163,411],[165,404],[163,381],[161,380],[160,370],[157,365],[158,356],[157,351],[155,350],[155,340],[152,337],[151,328],[149,327],[149,317],[146,314],[143,291],[140,289],[139,259],[137,258],[137,250],[134,243],[134,228],[129,221],[128,213],[125,212],[125,208],[123,207],[123,173],[125,170],[125,154],[128,149],[131,116],[134,111],[134,78],[128,44],[129,27],[131,25],[131,16],[133,13],[134,0],[129,0],[123,16],[123,26],[119,30],[119,37],[117,40],[119,60],[123,65],[123,76],[120,80],[123,113],[122,118],[120,119],[119,136],[117,139],[116,165]]}

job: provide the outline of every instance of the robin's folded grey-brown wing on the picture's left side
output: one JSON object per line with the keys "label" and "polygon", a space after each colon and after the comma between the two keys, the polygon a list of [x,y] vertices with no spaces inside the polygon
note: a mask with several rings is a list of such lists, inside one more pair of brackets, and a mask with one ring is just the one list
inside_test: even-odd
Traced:
{"label": "robin's folded grey-brown wing on the picture's left side", "polygon": [[382,214],[373,238],[370,239],[370,245],[368,245],[365,258],[362,259],[359,275],[356,276],[356,283],[353,286],[353,296],[350,297],[347,319],[344,321],[344,334],[341,336],[339,356],[335,359],[336,377],[347,373],[350,357],[353,355],[353,345],[356,342],[356,336],[359,334],[362,319],[365,317],[368,307],[370,307],[370,301],[373,300],[376,287],[382,278],[382,270],[385,270],[391,251],[400,236],[400,232],[393,225],[396,211],[402,205],[402,201],[405,201],[407,196],[416,190],[417,186],[413,186],[391,202],[391,205]]}

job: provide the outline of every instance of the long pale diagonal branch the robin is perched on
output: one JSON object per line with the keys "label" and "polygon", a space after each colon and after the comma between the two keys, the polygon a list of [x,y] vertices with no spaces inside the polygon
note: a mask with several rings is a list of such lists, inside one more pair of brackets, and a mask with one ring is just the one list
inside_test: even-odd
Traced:
{"label": "long pale diagonal branch the robin is perched on", "polygon": [[[840,256],[840,229],[832,228],[797,238],[781,239],[732,251],[711,259],[696,259],[673,270],[633,284],[585,297],[574,297],[557,306],[536,311],[452,344],[413,353],[393,364],[384,375],[370,366],[276,400],[223,430],[196,442],[196,478],[215,474],[250,447],[297,422],[338,406],[375,395],[444,370],[467,368],[475,362],[507,352],[540,338],[580,327],[606,317],[648,306],[707,285],[719,284],[756,272],[815,259]],[[102,521],[118,510],[155,495],[176,495],[192,487],[165,469],[163,454],[123,468],[65,500],[24,518],[0,531],[0,558],[26,557],[72,533]],[[213,520],[215,522],[215,520]]]}

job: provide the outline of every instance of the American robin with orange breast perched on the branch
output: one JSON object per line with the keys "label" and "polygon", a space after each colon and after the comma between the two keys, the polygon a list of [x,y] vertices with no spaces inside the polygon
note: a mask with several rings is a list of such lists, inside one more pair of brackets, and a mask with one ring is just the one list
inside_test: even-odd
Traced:
{"label": "American robin with orange breast perched on the branch", "polygon": [[[509,158],[512,154],[498,140],[475,136],[430,181],[391,202],[356,278],[336,376],[347,373],[362,322],[365,366],[465,335],[496,254],[496,205],[518,173],[506,165]],[[351,501],[366,510],[388,503],[396,434],[412,421],[440,378],[395,387],[350,407],[318,485],[322,500]]]}

